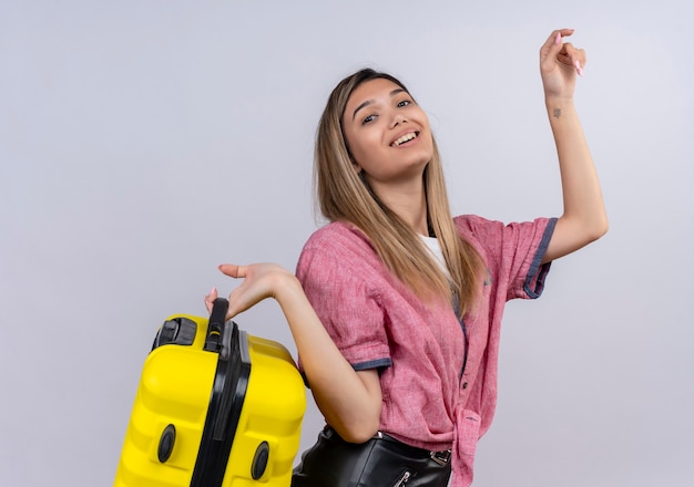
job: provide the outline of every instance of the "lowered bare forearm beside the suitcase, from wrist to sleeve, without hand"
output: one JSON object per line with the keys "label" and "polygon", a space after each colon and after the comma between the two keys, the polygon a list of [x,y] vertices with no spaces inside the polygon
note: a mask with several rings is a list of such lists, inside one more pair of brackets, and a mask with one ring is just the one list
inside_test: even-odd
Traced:
{"label": "lowered bare forearm beside the suitcase, from wrist to sleeve, without hand", "polygon": [[361,443],[378,429],[381,395],[376,371],[357,373],[339,352],[299,281],[285,277],[275,299],[282,307],[314,397],[345,439]]}

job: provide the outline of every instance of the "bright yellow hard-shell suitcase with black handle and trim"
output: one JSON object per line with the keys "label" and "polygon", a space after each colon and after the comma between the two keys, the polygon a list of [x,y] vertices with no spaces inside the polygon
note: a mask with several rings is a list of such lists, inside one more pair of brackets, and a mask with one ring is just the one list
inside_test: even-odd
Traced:
{"label": "bright yellow hard-shell suitcase with black handle and trim", "polygon": [[306,391],[289,352],[225,322],[169,318],[149,354],[114,487],[288,487]]}

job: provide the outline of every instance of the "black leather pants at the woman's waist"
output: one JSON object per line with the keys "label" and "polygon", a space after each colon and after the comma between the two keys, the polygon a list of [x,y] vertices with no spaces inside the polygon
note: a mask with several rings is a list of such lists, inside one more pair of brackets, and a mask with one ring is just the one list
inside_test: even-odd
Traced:
{"label": "black leather pants at the woman's waist", "polygon": [[449,477],[450,462],[425,449],[387,436],[357,445],[325,428],[302,455],[292,487],[446,487]]}

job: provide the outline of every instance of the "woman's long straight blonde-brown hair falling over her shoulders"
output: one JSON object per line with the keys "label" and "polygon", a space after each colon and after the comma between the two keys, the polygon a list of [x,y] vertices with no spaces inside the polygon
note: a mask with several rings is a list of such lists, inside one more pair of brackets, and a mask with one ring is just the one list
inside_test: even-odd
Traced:
{"label": "woman's long straight blonde-brown hair falling over her shoulders", "polygon": [[314,160],[320,213],[330,221],[355,225],[370,240],[386,267],[415,293],[427,300],[453,298],[462,317],[471,309],[479,289],[482,260],[455,228],[436,141],[431,160],[423,172],[423,185],[428,224],[443,251],[450,281],[417,234],[382,204],[354,170],[343,116],[354,90],[376,79],[389,80],[409,94],[394,76],[364,69],[344,79],[328,97],[318,125]]}

